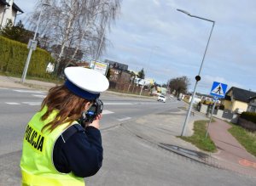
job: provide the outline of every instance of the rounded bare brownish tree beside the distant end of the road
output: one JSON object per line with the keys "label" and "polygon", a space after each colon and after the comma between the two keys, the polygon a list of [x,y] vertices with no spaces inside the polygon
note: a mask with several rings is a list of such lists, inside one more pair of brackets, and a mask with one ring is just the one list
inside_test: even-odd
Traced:
{"label": "rounded bare brownish tree beside the distant end of the road", "polygon": [[176,95],[179,93],[187,93],[189,87],[189,78],[187,76],[181,76],[177,78],[172,78],[167,82],[171,91],[175,91]]}

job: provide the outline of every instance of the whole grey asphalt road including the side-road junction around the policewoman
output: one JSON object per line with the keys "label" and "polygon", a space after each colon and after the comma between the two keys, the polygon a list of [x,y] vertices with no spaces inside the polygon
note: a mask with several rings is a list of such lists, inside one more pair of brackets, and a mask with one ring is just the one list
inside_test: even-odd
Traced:
{"label": "whole grey asphalt road including the side-road junction around the policewoman", "polygon": [[[46,92],[0,88],[0,185],[20,184],[21,144],[27,121],[39,110]],[[140,117],[177,110],[183,103],[168,99],[127,98],[102,94],[104,161],[86,185],[249,185],[256,179],[206,166],[172,153],[129,132]],[[124,125],[119,125],[123,123]],[[125,126],[125,127],[124,127]],[[143,131],[142,131],[143,132]]]}

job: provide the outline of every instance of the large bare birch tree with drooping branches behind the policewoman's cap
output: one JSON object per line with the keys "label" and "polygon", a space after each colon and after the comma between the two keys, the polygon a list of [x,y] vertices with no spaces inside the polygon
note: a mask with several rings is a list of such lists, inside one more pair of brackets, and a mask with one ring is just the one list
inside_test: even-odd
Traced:
{"label": "large bare birch tree with drooping branches behind the policewoman's cap", "polygon": [[[28,19],[31,28],[36,25],[42,3],[45,1],[36,5]],[[120,0],[51,0],[50,4],[43,9],[39,32],[49,37],[52,46],[61,46],[56,55],[58,74],[79,50],[91,58],[102,54],[106,30],[119,14]],[[65,56],[66,48],[74,48],[73,54]]]}

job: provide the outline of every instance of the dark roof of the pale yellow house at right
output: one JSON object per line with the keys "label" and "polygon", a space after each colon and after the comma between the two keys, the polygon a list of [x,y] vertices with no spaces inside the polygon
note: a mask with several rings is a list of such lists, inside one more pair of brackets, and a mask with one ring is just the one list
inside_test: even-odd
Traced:
{"label": "dark roof of the pale yellow house at right", "polygon": [[246,103],[249,102],[249,99],[256,96],[255,92],[245,90],[245,89],[241,89],[239,87],[231,87],[230,90],[226,93],[226,95],[228,93],[230,93],[230,91],[233,92],[233,99],[236,99],[236,100],[242,101],[242,102],[246,102]]}

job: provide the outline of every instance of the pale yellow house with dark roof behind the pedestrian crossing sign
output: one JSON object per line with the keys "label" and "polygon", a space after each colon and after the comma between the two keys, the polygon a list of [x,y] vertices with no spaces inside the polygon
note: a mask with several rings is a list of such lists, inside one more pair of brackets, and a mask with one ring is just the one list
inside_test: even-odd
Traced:
{"label": "pale yellow house with dark roof behind the pedestrian crossing sign", "polygon": [[231,87],[222,100],[222,104],[224,104],[225,109],[241,114],[241,112],[247,110],[249,99],[254,95],[256,93],[252,91]]}

